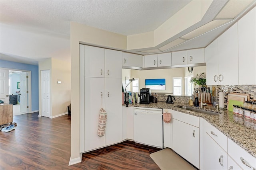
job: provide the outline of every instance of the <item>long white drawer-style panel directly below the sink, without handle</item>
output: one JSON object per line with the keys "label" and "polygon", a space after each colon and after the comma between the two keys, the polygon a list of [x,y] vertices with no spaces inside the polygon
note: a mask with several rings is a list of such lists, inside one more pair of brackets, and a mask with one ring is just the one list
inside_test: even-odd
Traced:
{"label": "long white drawer-style panel directly below the sink, without handle", "polygon": [[199,117],[172,110],[172,118],[199,127]]}

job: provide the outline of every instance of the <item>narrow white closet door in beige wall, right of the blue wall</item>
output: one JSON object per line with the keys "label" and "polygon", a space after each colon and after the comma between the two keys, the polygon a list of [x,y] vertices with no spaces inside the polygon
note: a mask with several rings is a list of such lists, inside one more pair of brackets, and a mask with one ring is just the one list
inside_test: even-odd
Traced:
{"label": "narrow white closet door in beige wall, right of the blue wall", "polygon": [[41,71],[41,112],[50,117],[50,70]]}

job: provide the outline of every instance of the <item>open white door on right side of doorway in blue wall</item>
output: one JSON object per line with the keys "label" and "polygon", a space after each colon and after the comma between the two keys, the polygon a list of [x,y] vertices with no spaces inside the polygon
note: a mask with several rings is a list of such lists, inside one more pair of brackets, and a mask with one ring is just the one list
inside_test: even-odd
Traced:
{"label": "open white door on right side of doorway in blue wall", "polygon": [[28,72],[20,73],[20,112],[28,113]]}

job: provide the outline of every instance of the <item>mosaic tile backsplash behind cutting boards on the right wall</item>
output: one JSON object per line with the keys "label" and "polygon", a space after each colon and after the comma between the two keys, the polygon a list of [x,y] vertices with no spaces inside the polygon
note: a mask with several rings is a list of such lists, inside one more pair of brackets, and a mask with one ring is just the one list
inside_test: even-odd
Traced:
{"label": "mosaic tile backsplash behind cutting boards on the right wall", "polygon": [[227,107],[228,94],[230,92],[234,93],[244,93],[250,94],[250,100],[256,101],[256,85],[236,85],[236,86],[217,86],[217,96],[219,101],[219,92],[224,92],[224,105]]}

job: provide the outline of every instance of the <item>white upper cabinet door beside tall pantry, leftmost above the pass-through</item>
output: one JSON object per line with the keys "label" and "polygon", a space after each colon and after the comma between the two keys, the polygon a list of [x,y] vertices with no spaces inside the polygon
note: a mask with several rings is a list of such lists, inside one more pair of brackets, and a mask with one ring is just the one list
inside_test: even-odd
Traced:
{"label": "white upper cabinet door beside tall pantry, leftmost above the pass-through", "polygon": [[142,67],[142,55],[123,52],[122,53],[122,66]]}

